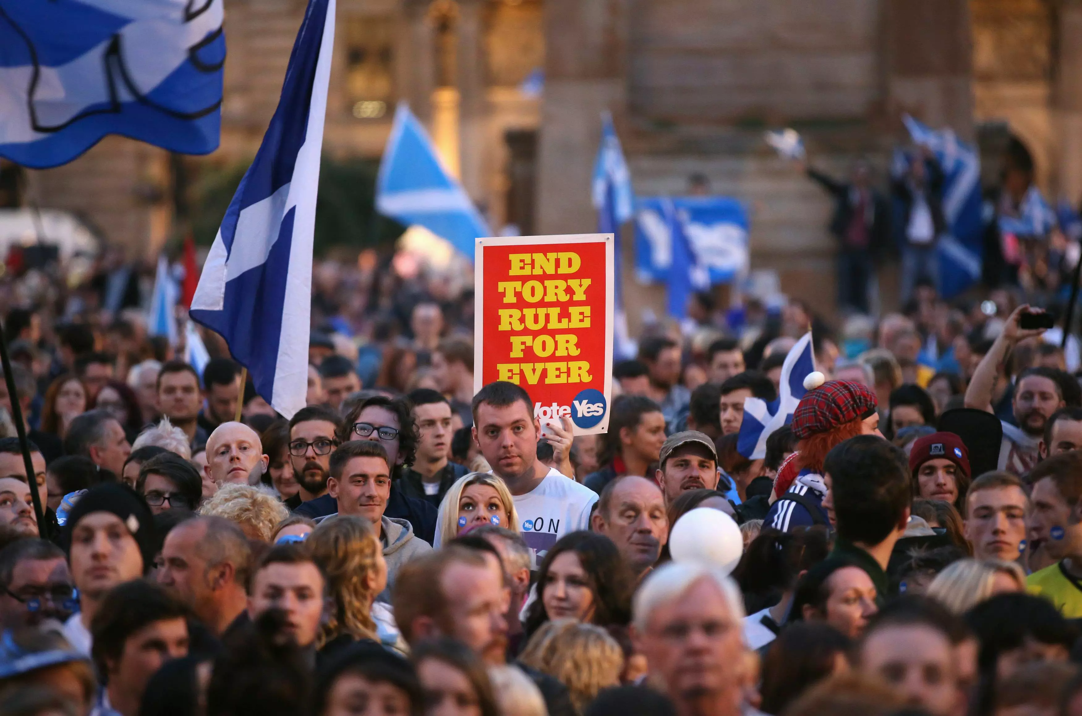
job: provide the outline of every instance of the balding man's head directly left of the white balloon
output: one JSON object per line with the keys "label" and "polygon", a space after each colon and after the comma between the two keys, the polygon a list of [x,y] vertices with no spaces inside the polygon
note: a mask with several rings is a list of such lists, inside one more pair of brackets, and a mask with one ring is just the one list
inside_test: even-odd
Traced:
{"label": "balding man's head directly left of the white balloon", "polygon": [[602,490],[591,527],[612,540],[635,575],[642,576],[658,561],[669,536],[661,488],[632,475],[612,480]]}

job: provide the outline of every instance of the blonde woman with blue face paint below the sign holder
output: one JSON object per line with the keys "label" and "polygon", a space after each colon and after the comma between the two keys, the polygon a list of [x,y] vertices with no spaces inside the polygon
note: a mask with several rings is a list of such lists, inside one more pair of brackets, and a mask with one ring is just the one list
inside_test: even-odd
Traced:
{"label": "blonde woman with blue face paint below the sign holder", "polygon": [[439,503],[432,546],[439,549],[444,543],[481,525],[518,532],[518,513],[503,480],[490,473],[470,473],[456,480]]}

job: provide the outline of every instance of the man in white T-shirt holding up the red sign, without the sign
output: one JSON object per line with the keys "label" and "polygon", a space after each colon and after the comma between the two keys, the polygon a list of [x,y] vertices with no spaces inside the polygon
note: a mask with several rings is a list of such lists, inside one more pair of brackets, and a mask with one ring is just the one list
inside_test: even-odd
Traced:
{"label": "man in white T-shirt holding up the red sign, without the sign", "polygon": [[[474,440],[526,520],[523,538],[533,551],[536,566],[538,552],[547,551],[568,532],[589,529],[597,494],[538,460],[541,424],[533,416],[529,394],[520,386],[489,383],[474,396],[473,416]],[[547,439],[558,441],[560,450],[571,448],[570,438]]]}

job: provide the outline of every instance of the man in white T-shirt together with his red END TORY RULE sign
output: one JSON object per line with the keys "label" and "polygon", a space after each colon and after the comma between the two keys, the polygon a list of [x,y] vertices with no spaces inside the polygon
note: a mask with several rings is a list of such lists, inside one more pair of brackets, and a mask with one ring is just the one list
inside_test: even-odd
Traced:
{"label": "man in white T-shirt together with his red END TORY RULE sign", "polygon": [[[570,433],[608,428],[612,375],[611,234],[477,239],[474,439],[515,500],[535,567],[589,529],[597,495],[537,459]],[[484,386],[484,387],[483,387]]]}

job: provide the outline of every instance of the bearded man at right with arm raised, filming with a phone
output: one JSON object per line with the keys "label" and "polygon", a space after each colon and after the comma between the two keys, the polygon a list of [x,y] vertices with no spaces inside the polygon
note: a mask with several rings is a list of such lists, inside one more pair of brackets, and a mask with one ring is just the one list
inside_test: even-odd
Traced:
{"label": "bearded man at right with arm raised, filming with a phone", "polygon": [[[974,371],[965,392],[965,407],[992,412],[992,390],[1007,356],[1019,343],[1039,339],[1052,326],[1052,317],[1040,308],[1029,305],[1016,308]],[[1003,422],[1000,469],[1026,475],[1037,464],[1045,423],[1052,413],[1067,405],[1060,375],[1066,373],[1052,368],[1027,368],[1018,374],[1011,402],[1015,425]]]}

